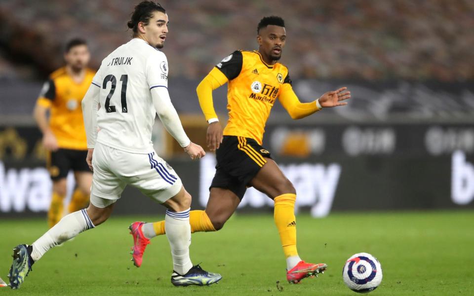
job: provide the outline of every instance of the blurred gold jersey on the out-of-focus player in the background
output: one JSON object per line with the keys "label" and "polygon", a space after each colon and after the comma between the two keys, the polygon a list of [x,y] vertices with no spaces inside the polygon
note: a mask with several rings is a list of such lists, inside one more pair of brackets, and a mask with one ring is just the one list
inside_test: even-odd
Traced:
{"label": "blurred gold jersey on the out-of-focus player in the background", "polygon": [[94,71],[86,69],[84,79],[77,83],[63,67],[44,83],[37,104],[50,109],[49,126],[59,148],[87,149],[81,101],[94,75]]}

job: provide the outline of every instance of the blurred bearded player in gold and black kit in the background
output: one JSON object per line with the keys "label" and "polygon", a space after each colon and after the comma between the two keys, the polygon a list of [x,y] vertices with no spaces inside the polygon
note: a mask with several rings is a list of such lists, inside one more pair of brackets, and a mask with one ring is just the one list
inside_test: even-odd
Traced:
{"label": "blurred bearded player in gold and black kit in the background", "polygon": [[48,150],[47,168],[53,181],[49,227],[63,216],[69,170],[74,171],[77,184],[69,213],[87,205],[92,182],[92,173],[85,162],[87,141],[80,106],[95,74],[87,68],[90,55],[86,42],[82,39],[69,41],[64,59],[66,66],[54,71],[44,83],[34,111],[43,134],[43,146]]}

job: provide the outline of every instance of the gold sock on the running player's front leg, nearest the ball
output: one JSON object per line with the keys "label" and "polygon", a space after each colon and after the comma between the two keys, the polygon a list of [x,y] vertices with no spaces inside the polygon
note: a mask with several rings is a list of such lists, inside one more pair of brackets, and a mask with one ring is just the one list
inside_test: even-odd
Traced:
{"label": "gold sock on the running player's front leg, nearest the ball", "polygon": [[285,253],[286,258],[298,256],[298,251],[296,250],[296,194],[282,194],[275,197],[274,201],[274,219],[280,234],[283,253]]}

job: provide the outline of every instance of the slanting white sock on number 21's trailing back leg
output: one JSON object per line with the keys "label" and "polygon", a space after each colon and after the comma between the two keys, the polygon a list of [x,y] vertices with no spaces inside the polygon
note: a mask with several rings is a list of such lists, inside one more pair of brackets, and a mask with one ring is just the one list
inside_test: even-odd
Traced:
{"label": "slanting white sock on number 21's trailing back leg", "polygon": [[85,209],[66,215],[33,243],[31,258],[38,261],[52,247],[94,227]]}

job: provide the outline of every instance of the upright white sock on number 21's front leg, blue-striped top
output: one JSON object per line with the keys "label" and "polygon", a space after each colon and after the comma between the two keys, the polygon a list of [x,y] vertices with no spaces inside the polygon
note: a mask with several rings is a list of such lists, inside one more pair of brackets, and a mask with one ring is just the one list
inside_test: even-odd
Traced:
{"label": "upright white sock on number 21's front leg, blue-striped top", "polygon": [[190,210],[183,212],[168,210],[164,218],[164,229],[173,257],[173,270],[181,275],[186,274],[193,267],[193,263],[189,258],[189,246],[191,245]]}

